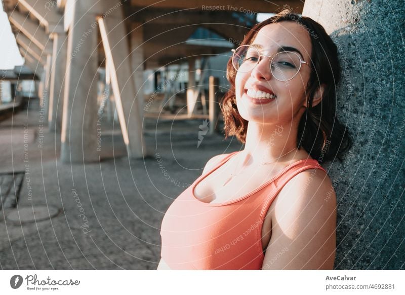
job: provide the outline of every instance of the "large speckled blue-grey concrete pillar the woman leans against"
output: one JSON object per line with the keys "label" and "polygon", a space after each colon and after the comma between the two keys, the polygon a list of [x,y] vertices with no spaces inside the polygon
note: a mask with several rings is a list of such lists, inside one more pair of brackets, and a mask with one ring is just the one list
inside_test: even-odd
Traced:
{"label": "large speckled blue-grey concrete pillar the woman leans against", "polygon": [[338,47],[337,114],[354,141],[344,165],[325,165],[338,201],[335,269],[403,270],[403,1],[306,0],[303,15]]}

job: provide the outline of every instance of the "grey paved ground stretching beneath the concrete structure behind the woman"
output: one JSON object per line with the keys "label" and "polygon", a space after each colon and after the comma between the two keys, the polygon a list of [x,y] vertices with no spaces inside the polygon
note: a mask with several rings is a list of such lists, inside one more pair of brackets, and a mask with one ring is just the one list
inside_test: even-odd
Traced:
{"label": "grey paved ground stretching beneath the concrete structure behind the woman", "polygon": [[[115,131],[103,129],[100,162],[66,165],[59,161],[60,136],[45,127],[40,138],[38,118],[37,110],[22,110],[0,122],[0,173],[24,172],[17,209],[0,213],[4,270],[156,269],[161,219],[185,189],[183,183],[192,183],[212,156],[240,149],[235,139],[220,134],[205,135],[197,148],[202,119],[169,120],[157,127],[147,119],[146,143],[159,153],[173,181],[153,156],[129,163],[116,124]],[[10,220],[13,211],[18,210],[16,216],[37,206],[50,208],[47,219]],[[58,214],[49,218],[53,208]]]}

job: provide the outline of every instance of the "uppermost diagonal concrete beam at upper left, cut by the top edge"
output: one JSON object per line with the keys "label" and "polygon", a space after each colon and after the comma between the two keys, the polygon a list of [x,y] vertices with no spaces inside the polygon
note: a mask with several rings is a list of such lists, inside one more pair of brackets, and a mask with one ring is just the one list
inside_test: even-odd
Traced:
{"label": "uppermost diagonal concrete beam at upper left, cut by the top edge", "polygon": [[63,16],[57,12],[53,2],[45,0],[18,0],[18,4],[25,7],[30,14],[46,27],[47,33],[63,32]]}

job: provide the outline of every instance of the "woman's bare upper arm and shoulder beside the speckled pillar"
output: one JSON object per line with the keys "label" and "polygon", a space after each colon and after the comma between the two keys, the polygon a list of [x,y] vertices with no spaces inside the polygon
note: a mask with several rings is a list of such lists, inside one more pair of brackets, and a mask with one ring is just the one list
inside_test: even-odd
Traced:
{"label": "woman's bare upper arm and shoulder beside the speckled pillar", "polygon": [[263,270],[333,269],[336,194],[324,171],[311,171],[292,178],[274,200]]}

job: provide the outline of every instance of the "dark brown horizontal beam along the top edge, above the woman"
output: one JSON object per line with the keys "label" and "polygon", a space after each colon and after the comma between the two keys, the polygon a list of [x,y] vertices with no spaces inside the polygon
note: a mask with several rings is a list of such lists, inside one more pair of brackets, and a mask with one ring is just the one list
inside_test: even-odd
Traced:
{"label": "dark brown horizontal beam along the top edge, above the woman", "polygon": [[294,8],[294,12],[301,13],[304,7],[304,2],[300,0],[273,0],[265,2],[263,0],[232,0],[227,1],[226,4],[220,4],[217,0],[171,0],[160,1],[154,0],[131,0],[132,6],[151,8],[165,8],[165,9],[196,9],[196,10],[209,10],[209,7],[220,7],[217,10],[226,10],[229,12],[275,12],[277,9],[282,8],[285,5],[289,5]]}

